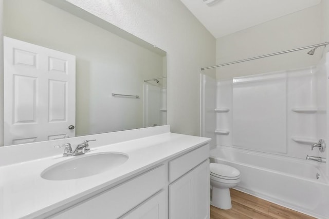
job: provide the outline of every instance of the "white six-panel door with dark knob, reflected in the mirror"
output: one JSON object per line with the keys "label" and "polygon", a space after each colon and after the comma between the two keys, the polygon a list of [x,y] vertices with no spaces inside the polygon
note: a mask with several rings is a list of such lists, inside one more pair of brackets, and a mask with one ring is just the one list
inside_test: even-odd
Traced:
{"label": "white six-panel door with dark knob, reflected in the mirror", "polygon": [[75,136],[76,57],[4,36],[4,144]]}

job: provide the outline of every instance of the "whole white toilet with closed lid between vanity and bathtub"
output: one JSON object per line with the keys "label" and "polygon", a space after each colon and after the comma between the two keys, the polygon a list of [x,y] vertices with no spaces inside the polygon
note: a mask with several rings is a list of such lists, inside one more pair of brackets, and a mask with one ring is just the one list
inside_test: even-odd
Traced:
{"label": "whole white toilet with closed lid between vanity and bathtub", "polygon": [[225,164],[210,163],[211,205],[224,210],[232,208],[230,188],[240,183],[240,171]]}

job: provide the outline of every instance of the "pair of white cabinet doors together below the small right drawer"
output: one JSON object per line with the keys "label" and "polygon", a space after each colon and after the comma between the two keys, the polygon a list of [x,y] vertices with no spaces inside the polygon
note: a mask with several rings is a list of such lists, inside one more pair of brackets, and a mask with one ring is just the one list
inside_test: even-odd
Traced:
{"label": "pair of white cabinet doors together below the small right drawer", "polygon": [[209,160],[169,185],[169,218],[210,218]]}

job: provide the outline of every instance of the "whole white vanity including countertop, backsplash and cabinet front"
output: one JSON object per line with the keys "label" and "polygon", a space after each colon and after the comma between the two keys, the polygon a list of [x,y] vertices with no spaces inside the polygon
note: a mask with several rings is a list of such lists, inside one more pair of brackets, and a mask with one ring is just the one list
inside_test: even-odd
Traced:
{"label": "whole white vanity including countertop, backsplash and cabinet front", "polygon": [[[209,219],[210,138],[171,133],[169,125],[88,138],[98,145],[77,157],[54,149],[68,140],[0,147],[0,218]],[[83,141],[69,138],[72,145]],[[102,163],[109,169],[100,172],[88,163],[95,174],[86,177],[79,177],[81,168],[72,169],[72,180],[43,177],[53,167],[66,171],[59,164],[106,153],[129,158]]]}

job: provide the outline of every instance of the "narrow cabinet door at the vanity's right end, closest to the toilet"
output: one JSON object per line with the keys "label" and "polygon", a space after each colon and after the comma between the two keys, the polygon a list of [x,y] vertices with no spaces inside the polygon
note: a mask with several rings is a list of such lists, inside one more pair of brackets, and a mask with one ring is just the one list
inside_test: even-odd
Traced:
{"label": "narrow cabinet door at the vanity's right end, closest to the toilet", "polygon": [[210,218],[209,160],[194,170],[194,218]]}

